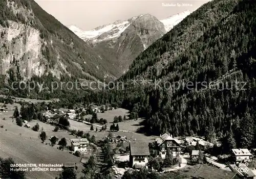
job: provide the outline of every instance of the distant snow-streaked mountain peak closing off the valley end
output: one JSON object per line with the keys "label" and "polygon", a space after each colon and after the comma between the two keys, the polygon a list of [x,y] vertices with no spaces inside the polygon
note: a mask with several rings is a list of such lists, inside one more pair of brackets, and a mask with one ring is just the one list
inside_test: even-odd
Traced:
{"label": "distant snow-streaked mountain peak closing off the valley end", "polygon": [[102,60],[112,63],[112,74],[118,78],[143,50],[189,14],[190,11],[184,11],[162,20],[144,14],[101,25],[91,31],[83,31],[75,25],[69,29],[99,52]]}

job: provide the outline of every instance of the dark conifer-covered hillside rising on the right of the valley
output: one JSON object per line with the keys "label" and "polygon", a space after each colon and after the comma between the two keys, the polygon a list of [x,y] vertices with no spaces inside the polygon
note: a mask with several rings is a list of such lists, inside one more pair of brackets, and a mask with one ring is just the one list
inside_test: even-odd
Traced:
{"label": "dark conifer-covered hillside rising on the right of the valley", "polygon": [[[238,147],[255,146],[255,27],[255,1],[211,1],[136,58],[120,78],[125,90],[102,91],[83,100],[115,103],[130,109],[132,118],[146,117],[144,132],[150,134],[197,134],[209,141],[228,136]],[[147,83],[140,83],[142,79]],[[158,88],[155,80],[161,81]],[[236,87],[236,81],[246,85]],[[164,88],[166,82],[194,86],[173,90]]]}

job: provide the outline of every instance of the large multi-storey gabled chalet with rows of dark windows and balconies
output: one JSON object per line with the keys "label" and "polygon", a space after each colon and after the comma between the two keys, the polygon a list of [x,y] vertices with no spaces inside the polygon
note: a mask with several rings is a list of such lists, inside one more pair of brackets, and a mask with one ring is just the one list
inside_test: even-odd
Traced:
{"label": "large multi-storey gabled chalet with rows of dark windows and balconies", "polygon": [[173,152],[173,156],[176,157],[177,153],[180,152],[180,140],[175,139],[169,133],[160,135],[159,138],[155,139],[155,145],[157,149],[157,155],[165,159],[166,150],[169,148]]}

